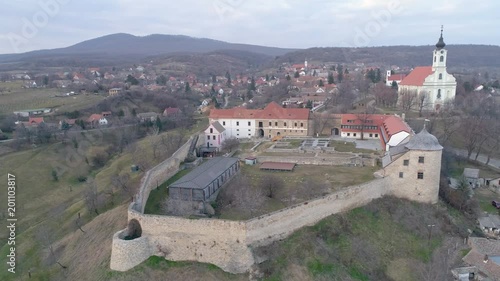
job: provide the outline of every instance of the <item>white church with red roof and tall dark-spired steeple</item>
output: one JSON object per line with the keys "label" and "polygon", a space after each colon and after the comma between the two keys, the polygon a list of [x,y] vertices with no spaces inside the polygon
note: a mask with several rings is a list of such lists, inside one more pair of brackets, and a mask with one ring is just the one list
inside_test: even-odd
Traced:
{"label": "white church with red roof and tall dark-spired steeple", "polygon": [[443,40],[443,28],[441,27],[441,37],[433,52],[432,66],[415,67],[408,76],[399,83],[398,93],[414,92],[417,94],[426,93],[427,110],[439,110],[446,101],[455,98],[457,81],[453,75],[446,71],[446,59],[448,51],[444,48],[446,44]]}

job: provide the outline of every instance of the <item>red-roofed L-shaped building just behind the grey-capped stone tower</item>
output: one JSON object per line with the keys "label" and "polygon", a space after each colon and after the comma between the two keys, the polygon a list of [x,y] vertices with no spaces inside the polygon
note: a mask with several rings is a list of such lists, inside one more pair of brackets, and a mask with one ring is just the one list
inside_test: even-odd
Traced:
{"label": "red-roofed L-shaped building just behind the grey-capped stone tower", "polygon": [[340,135],[354,139],[380,139],[382,150],[408,141],[410,126],[397,115],[342,114]]}

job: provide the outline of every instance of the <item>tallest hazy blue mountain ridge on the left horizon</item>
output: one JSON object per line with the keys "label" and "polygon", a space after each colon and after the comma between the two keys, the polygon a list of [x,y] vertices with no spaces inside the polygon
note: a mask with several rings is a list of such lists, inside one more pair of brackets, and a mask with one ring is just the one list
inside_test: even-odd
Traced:
{"label": "tallest hazy blue mountain ridge on the left horizon", "polygon": [[270,56],[283,55],[293,49],[235,44],[183,35],[152,34],[134,36],[118,33],[86,40],[66,48],[38,50],[23,54],[0,55],[0,62],[27,61],[47,57],[135,57],[178,52],[206,53],[216,50],[247,51]]}

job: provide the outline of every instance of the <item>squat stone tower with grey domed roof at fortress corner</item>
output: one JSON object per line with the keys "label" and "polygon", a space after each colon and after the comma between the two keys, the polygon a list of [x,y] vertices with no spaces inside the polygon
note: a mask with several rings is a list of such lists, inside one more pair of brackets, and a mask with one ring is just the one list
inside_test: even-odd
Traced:
{"label": "squat stone tower with grey domed roof at fortress corner", "polygon": [[437,203],[443,147],[424,128],[420,133],[389,151],[391,161],[384,167],[389,193],[400,198]]}

